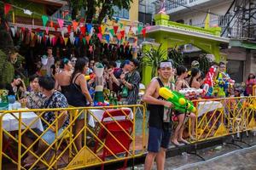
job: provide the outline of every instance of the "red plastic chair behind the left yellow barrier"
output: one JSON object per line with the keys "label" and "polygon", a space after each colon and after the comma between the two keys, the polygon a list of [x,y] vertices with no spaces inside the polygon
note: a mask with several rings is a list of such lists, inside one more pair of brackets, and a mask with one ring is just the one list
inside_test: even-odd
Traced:
{"label": "red plastic chair behind the left yellow barrier", "polygon": [[[102,124],[108,129],[109,133],[104,127],[101,127],[98,133],[98,138],[101,139],[102,141],[104,140],[104,144],[105,144],[105,146],[103,147],[102,156],[100,156],[102,158],[102,161],[105,161],[106,156],[112,156],[109,150],[111,150],[115,155],[125,152],[125,156],[128,156],[128,152],[126,150],[129,150],[130,148],[130,144],[131,144],[130,136],[131,136],[132,127],[133,127],[133,123],[129,118],[127,118],[127,116],[129,117],[129,114],[131,114],[130,112],[131,110],[129,109],[122,109],[122,110],[114,109],[108,112],[107,111],[104,112],[102,117]],[[125,116],[125,119],[116,120],[115,122],[109,115],[113,116],[113,118],[118,116]],[[108,122],[106,121],[106,119],[108,120]],[[111,120],[109,121],[109,119]],[[121,127],[126,131],[126,133]],[[120,144],[116,141],[116,139],[112,137],[110,133],[112,133],[113,136],[117,140],[119,140]],[[127,135],[127,133],[129,135]],[[95,153],[97,150],[97,146],[98,146],[98,141],[96,141]],[[107,149],[107,147],[109,150]],[[125,159],[124,167],[122,168],[125,168],[125,167],[127,167],[127,159]],[[102,164],[102,169],[104,169],[104,164]]]}

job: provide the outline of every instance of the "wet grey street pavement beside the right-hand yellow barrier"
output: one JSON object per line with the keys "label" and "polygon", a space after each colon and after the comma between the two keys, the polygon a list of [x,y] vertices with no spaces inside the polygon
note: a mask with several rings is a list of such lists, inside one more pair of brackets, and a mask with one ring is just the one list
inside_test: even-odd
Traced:
{"label": "wet grey street pavement beside the right-hand yellow barrier", "polygon": [[[234,143],[228,139],[222,145],[197,150],[197,154],[199,156],[183,152],[180,156],[166,158],[165,169],[254,170],[256,169],[256,136],[249,133],[248,138],[244,136],[241,141]],[[134,169],[142,170],[143,165],[137,165]],[[155,163],[153,169],[156,169]]]}

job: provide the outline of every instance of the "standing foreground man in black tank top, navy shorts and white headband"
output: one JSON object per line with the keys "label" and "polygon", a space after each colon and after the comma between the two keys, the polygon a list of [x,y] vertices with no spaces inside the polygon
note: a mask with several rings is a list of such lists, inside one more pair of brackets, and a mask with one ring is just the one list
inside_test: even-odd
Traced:
{"label": "standing foreground man in black tank top, navy shorts and white headband", "polygon": [[148,155],[146,156],[144,169],[152,169],[154,159],[158,170],[163,170],[166,161],[166,149],[168,148],[172,124],[172,103],[164,100],[159,95],[161,87],[173,89],[169,81],[172,77],[172,63],[163,61],[158,67],[159,77],[154,77],[148,85],[143,101],[148,104],[150,111],[148,119]]}

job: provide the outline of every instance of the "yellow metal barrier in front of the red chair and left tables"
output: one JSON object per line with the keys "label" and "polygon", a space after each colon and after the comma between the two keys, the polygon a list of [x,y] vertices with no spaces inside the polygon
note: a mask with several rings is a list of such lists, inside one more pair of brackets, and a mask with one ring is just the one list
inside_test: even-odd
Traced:
{"label": "yellow metal barrier in front of the red chair and left tables", "polygon": [[0,169],[73,169],[135,158],[146,151],[145,129],[143,105],[2,111]]}

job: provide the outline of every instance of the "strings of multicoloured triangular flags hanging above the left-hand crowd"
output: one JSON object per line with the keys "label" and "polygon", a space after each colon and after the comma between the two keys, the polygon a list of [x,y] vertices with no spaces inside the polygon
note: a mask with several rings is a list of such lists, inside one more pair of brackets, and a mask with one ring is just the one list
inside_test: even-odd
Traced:
{"label": "strings of multicoloured triangular flags hanging above the left-hand crowd", "polygon": [[[9,3],[4,3],[4,14],[9,14],[10,9],[13,7],[13,5]],[[23,9],[25,14],[32,14],[31,11],[27,9]],[[65,16],[68,14],[68,11],[64,11],[65,14],[62,14],[62,16]],[[20,30],[18,30],[17,26],[10,27],[10,30],[13,34],[13,37],[15,36],[21,36],[21,38],[25,38],[28,33],[31,37],[31,40],[37,39],[38,42],[47,42],[49,41],[51,45],[55,46],[58,39],[60,39],[61,43],[64,43],[67,45],[67,42],[70,41],[73,45],[78,45],[79,42],[83,42],[84,45],[88,44],[91,51],[91,37],[93,35],[96,35],[96,37],[99,38],[101,42],[107,42],[109,43],[116,43],[118,46],[123,44],[124,46],[129,45],[129,38],[133,38],[133,44],[132,47],[137,47],[137,35],[142,34],[143,37],[146,37],[146,32],[150,29],[150,26],[143,26],[141,24],[138,24],[137,26],[124,26],[123,23],[115,22],[113,23],[113,26],[107,25],[107,20],[104,20],[104,24],[102,25],[93,25],[90,23],[84,23],[84,19],[81,19],[79,21],[73,20],[71,24],[64,25],[66,20],[63,19],[57,19],[57,23],[53,21],[52,18],[50,18],[47,15],[41,15],[44,30],[37,28],[33,29],[31,27],[21,27]],[[116,19],[116,21],[119,21]],[[59,34],[52,34],[49,32],[49,28],[54,28],[55,31],[61,30],[61,36]],[[27,31],[27,32],[26,32]],[[19,35],[18,35],[19,34]]]}

